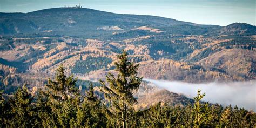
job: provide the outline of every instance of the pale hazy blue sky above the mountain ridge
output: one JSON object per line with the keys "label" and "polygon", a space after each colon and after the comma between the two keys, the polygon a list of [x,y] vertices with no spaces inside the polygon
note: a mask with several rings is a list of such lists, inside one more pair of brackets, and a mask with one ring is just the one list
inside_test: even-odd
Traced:
{"label": "pale hazy blue sky above the mountain ridge", "polygon": [[198,24],[256,25],[255,0],[0,0],[0,12],[30,12],[75,6],[118,14],[154,15]]}

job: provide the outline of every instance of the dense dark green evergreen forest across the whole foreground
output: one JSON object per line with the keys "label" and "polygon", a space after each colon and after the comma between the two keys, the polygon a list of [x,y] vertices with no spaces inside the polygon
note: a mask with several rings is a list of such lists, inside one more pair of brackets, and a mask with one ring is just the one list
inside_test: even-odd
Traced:
{"label": "dense dark green evergreen forest across the whole foreground", "polygon": [[[104,98],[96,95],[91,84],[85,95],[76,87],[77,79],[65,75],[60,65],[54,79],[32,95],[26,85],[14,96],[0,92],[0,127],[255,127],[256,114],[237,106],[223,107],[201,100],[198,90],[194,104],[173,107],[158,103],[135,110],[133,92],[142,78],[138,65],[123,51],[117,56],[115,70],[100,80]],[[81,71],[83,72],[83,71]],[[207,95],[207,94],[206,94]]]}

